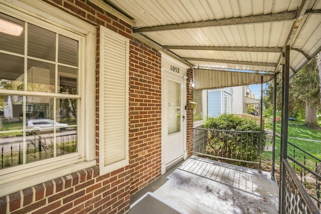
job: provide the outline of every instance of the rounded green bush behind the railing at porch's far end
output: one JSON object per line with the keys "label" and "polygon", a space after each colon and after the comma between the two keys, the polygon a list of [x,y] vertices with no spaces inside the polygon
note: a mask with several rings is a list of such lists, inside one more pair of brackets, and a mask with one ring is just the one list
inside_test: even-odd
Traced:
{"label": "rounded green bush behind the railing at porch's far end", "polygon": [[[209,131],[208,153],[238,160],[258,161],[260,133],[233,132],[260,131],[260,126],[255,121],[232,114],[222,114],[219,117],[207,118],[204,127],[212,129]],[[262,134],[263,148],[266,132],[263,131]]]}

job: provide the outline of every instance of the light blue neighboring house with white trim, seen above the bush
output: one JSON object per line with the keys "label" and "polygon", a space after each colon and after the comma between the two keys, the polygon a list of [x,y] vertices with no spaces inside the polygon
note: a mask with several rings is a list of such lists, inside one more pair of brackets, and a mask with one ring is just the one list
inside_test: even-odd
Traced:
{"label": "light blue neighboring house with white trim, seen above the bush", "polygon": [[208,116],[220,116],[223,113],[233,112],[233,90],[232,87],[212,89],[207,91]]}

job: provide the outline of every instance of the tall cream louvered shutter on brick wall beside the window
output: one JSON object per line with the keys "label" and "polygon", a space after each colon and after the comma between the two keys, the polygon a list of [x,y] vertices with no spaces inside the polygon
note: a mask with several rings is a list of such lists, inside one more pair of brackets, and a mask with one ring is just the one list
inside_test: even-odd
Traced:
{"label": "tall cream louvered shutter on brick wall beside the window", "polygon": [[129,164],[129,39],[100,27],[99,167],[105,174]]}

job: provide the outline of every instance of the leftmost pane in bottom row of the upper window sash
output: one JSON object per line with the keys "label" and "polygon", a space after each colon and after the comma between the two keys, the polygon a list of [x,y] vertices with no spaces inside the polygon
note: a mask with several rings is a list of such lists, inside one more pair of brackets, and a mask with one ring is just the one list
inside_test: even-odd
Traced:
{"label": "leftmost pane in bottom row of the upper window sash", "polygon": [[24,90],[24,58],[0,53],[0,89]]}

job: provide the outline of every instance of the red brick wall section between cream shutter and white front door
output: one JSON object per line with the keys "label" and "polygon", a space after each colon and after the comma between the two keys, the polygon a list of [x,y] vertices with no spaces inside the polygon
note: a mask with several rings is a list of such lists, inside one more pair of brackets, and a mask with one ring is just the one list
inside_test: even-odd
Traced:
{"label": "red brick wall section between cream shutter and white front door", "polygon": [[161,54],[136,39],[130,45],[130,192],[161,176]]}

